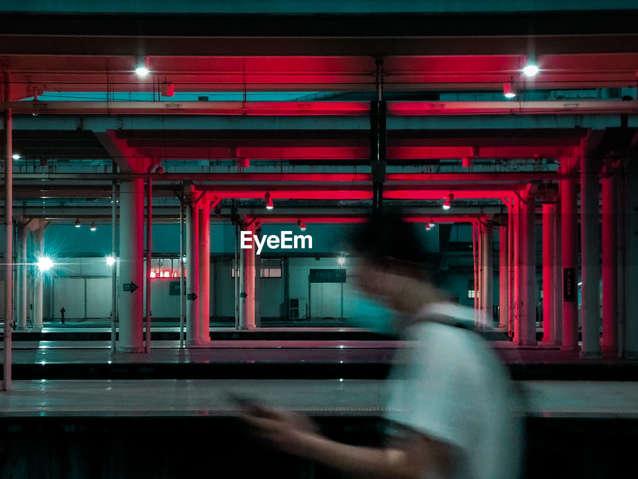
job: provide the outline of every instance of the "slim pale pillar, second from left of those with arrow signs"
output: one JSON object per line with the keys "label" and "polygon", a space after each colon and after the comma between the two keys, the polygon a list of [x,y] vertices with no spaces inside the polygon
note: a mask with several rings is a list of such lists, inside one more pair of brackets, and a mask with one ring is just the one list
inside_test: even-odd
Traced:
{"label": "slim pale pillar, second from left of those with arrow signs", "polygon": [[186,346],[200,344],[199,208],[191,198],[186,208]]}

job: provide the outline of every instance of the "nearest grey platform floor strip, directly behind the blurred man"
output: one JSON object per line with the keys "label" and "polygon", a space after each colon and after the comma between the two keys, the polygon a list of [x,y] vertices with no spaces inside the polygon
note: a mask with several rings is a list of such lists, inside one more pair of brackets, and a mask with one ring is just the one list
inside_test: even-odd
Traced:
{"label": "nearest grey platform floor strip, directly behind the blurred man", "polygon": [[[560,418],[638,418],[638,383],[523,381],[525,413]],[[146,380],[14,381],[0,393],[2,416],[226,416],[226,394],[255,397],[311,415],[377,415],[384,381]]]}

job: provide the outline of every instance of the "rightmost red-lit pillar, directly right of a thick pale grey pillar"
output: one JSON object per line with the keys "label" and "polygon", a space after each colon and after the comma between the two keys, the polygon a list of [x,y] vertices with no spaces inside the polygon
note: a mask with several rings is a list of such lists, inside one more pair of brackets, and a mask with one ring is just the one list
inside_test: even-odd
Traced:
{"label": "rightmost red-lit pillar, directly right of a thick pale grey pillar", "polygon": [[618,353],[617,178],[608,162],[602,179],[602,351]]}

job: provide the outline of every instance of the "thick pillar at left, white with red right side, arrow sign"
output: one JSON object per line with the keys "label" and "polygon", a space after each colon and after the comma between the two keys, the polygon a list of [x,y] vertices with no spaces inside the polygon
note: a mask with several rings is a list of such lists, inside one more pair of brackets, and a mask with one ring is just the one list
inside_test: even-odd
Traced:
{"label": "thick pillar at left, white with red right side, arrow sign", "polygon": [[[119,353],[143,353],[144,180],[120,185]],[[134,291],[131,291],[134,290]]]}

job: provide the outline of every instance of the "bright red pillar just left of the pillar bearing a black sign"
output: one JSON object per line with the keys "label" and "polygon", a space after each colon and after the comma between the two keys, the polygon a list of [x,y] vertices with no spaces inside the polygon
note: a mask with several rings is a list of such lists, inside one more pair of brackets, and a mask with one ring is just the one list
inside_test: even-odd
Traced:
{"label": "bright red pillar just left of the pillar bearing a black sign", "polygon": [[554,227],[556,222],[556,205],[543,204],[543,342],[552,342],[554,323]]}

